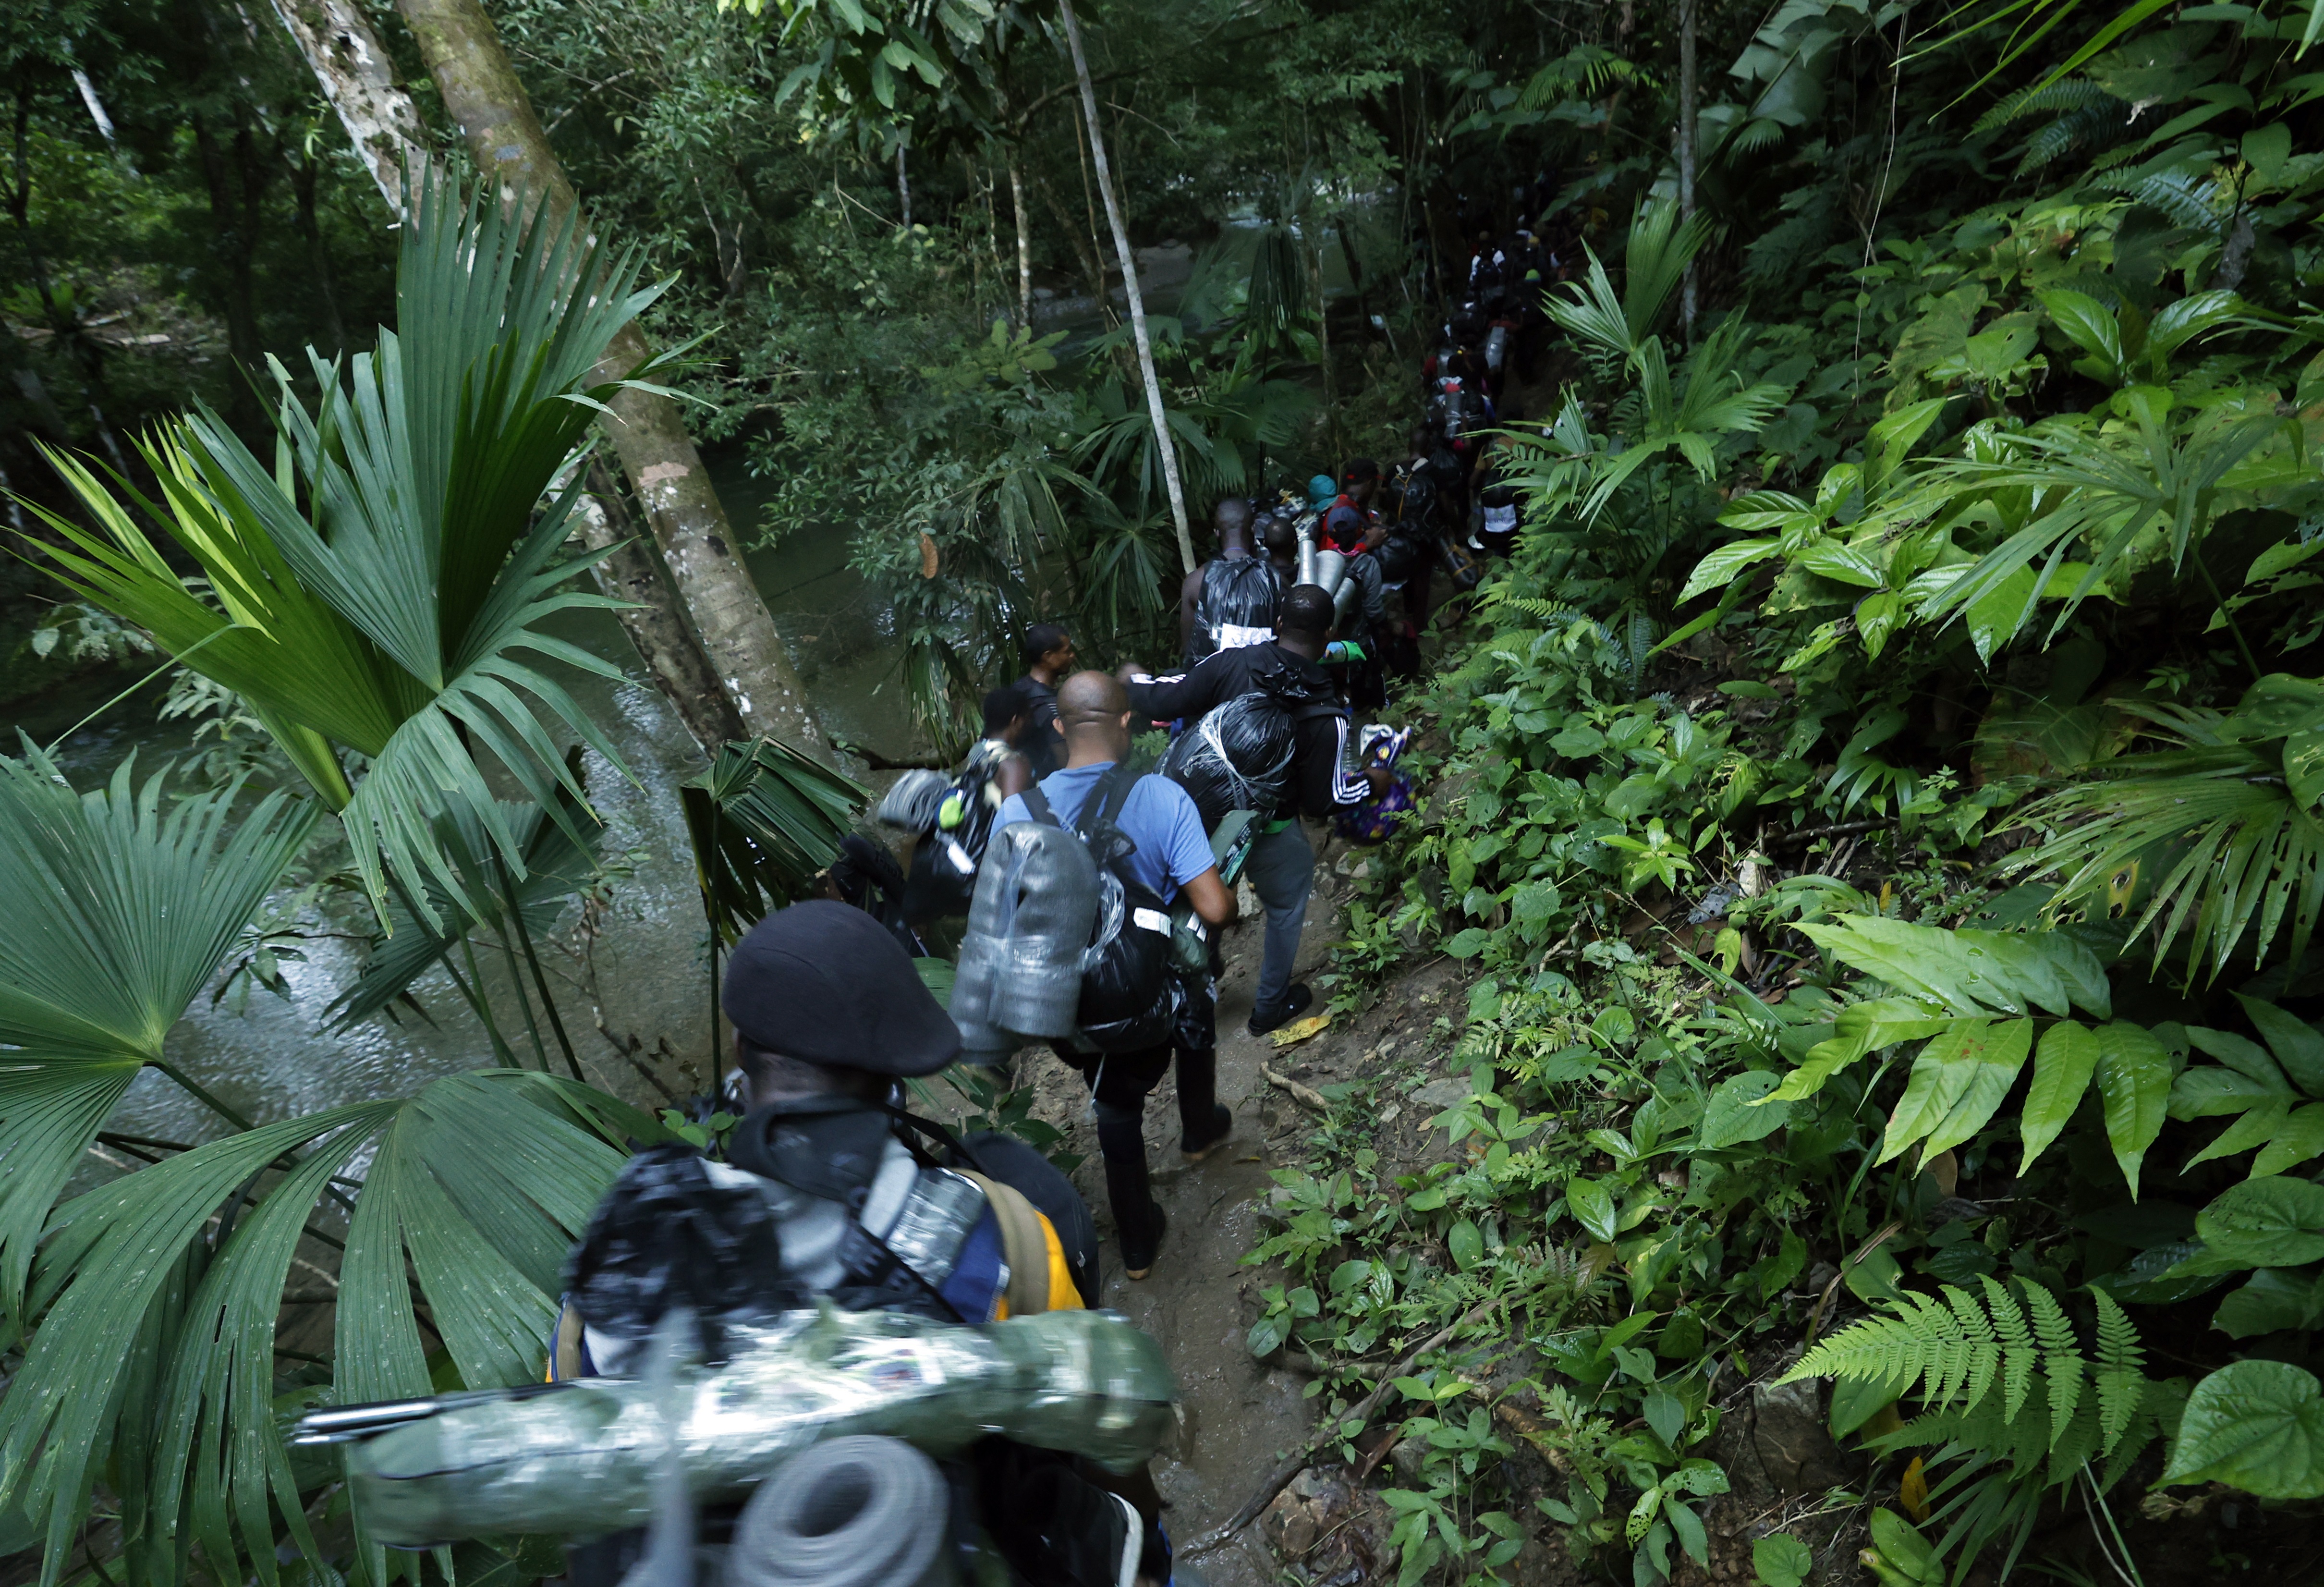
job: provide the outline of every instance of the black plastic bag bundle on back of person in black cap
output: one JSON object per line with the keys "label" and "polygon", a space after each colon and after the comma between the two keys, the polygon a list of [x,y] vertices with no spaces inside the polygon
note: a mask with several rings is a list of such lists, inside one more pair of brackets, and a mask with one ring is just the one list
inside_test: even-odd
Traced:
{"label": "black plastic bag bundle on back of person in black cap", "polygon": [[690,1146],[651,1146],[627,1164],[565,1259],[581,1320],[614,1338],[651,1338],[672,1306],[695,1313],[720,1359],[727,1327],[809,1306],[781,1278],[783,1243],[753,1185],[720,1185]]}

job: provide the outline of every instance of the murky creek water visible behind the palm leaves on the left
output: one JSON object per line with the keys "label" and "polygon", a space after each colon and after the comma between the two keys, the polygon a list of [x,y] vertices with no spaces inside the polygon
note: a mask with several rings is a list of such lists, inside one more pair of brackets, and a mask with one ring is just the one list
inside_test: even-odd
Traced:
{"label": "murky creek water visible behind the palm leaves on the left", "polygon": [[[741,534],[753,534],[769,481],[751,476],[739,455],[711,462],[718,493]],[[755,553],[751,572],[774,611],[823,720],[846,739],[885,755],[913,751],[902,683],[895,676],[895,637],[888,613],[848,569],[846,534],[795,534],[781,548]],[[702,769],[702,755],[662,695],[646,681],[637,653],[609,613],[565,613],[562,637],[607,658],[627,681],[565,674],[581,709],[614,741],[630,776],[588,755],[590,799],[607,820],[604,855],[623,874],[609,888],[593,932],[558,932],[558,946],[537,943],[565,1029],[590,1083],[641,1106],[660,1092],[600,1034],[634,1036],[655,1060],[665,1083],[686,1092],[709,1076],[709,934],[695,890],[693,848],[679,811],[679,783]],[[58,762],[77,788],[93,788],[130,753],[137,776],[191,746],[186,723],[158,720],[160,683],[114,706],[58,746]],[[21,713],[35,739],[63,732],[95,702],[49,699]],[[56,720],[51,720],[56,718]],[[634,778],[634,781],[632,781]],[[349,913],[349,911],[337,911]],[[353,911],[358,918],[363,911]],[[574,911],[567,911],[569,927]],[[337,1027],[328,1008],[356,978],[363,943],[332,934],[302,943],[304,962],[286,962],[288,999],[253,990],[244,1013],[195,1001],[170,1034],[167,1053],[200,1085],[253,1120],[290,1118],[374,1097],[402,1097],[432,1078],[493,1062],[490,1041],[442,969],[414,988],[423,1013],[372,1018]],[[360,929],[360,927],[358,927]],[[500,1008],[502,1034],[530,1062],[530,1041],[516,1015],[516,992],[497,948],[479,967]],[[551,1060],[562,1073],[555,1041],[544,1027]],[[674,1055],[667,1057],[667,1055]],[[223,1125],[174,1083],[146,1071],[130,1087],[116,1132],[160,1141],[202,1141]],[[100,1148],[102,1150],[102,1148]]]}

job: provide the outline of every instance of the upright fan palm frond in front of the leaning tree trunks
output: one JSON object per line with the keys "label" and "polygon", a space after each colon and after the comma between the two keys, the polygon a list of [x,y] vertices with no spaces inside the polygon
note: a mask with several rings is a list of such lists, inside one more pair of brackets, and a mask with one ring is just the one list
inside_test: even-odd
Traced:
{"label": "upright fan palm frond in front of the leaning tree trunks", "polygon": [[[581,788],[553,727],[621,767],[530,660],[616,676],[541,632],[558,611],[611,604],[562,588],[586,567],[560,560],[579,483],[539,520],[535,507],[593,411],[641,374],[590,383],[614,332],[653,295],[637,290],[634,251],[607,256],[569,221],[509,218],[481,191],[462,200],[430,181],[404,228],[400,330],[344,369],[309,353],[323,388],[314,411],[277,369],[277,467],[207,409],[144,448],[158,504],[56,458],[95,527],[44,514],[65,546],[33,548],[77,595],[149,627],[253,704],[342,811],[381,911],[390,878],[430,927],[442,925],[430,883],[483,911],[432,843],[456,811],[481,820],[523,874],[479,751],[560,823],[572,818],[555,790],[581,799]],[[218,609],[184,588],[139,514],[193,555]],[[335,751],[372,760],[363,788]],[[572,836],[586,839],[579,825]]]}

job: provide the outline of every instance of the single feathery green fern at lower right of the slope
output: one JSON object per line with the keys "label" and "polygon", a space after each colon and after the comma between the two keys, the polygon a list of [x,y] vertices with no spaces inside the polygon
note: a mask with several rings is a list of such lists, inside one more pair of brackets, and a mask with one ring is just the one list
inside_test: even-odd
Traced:
{"label": "single feathery green fern at lower right of the slope", "polygon": [[2082,1480],[2103,1496],[2157,1438],[2173,1399],[2173,1385],[2147,1378],[2138,1329],[2103,1290],[2089,1292],[2096,1327],[2085,1350],[2043,1285],[1978,1283],[1982,1294],[1906,1292],[1887,1301],[1887,1315],[1841,1329],[1780,1378],[1920,1396],[1920,1415],[1866,1443],[1880,1455],[1936,1448],[1929,1466],[1943,1475],[1929,1501],[1945,1534],[1934,1554],[1957,1561],[1957,1580],[1992,1543],[2006,1543],[2008,1573],[2050,1489]]}

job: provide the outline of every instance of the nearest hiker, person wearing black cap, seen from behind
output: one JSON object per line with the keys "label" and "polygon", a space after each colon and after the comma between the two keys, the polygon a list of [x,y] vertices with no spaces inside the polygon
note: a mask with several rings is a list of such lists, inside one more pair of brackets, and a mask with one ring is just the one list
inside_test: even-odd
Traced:
{"label": "nearest hiker, person wearing black cap, seen from behind", "polygon": [[[679,1304],[716,1341],[720,1304],[746,1310],[739,1294],[967,1324],[1097,1297],[1097,1231],[1057,1169],[1023,1141],[960,1141],[897,1106],[897,1083],[951,1064],[960,1032],[871,915],[827,899],[774,911],[734,946],[720,1006],[748,1106],[727,1162],[672,1146],[630,1159],[567,1262],[551,1378],[637,1371]],[[718,1262],[730,1271],[690,1271]],[[641,1276],[662,1280],[651,1308]],[[1169,1580],[1143,1471],[985,1438],[953,1475],[1020,1578],[1125,1587],[1111,1561],[1136,1559],[1141,1582]],[[614,1587],[641,1536],[574,1550],[574,1585]]]}

